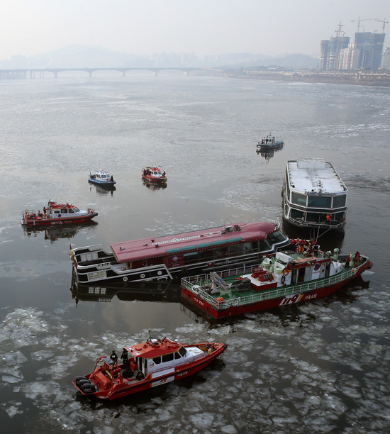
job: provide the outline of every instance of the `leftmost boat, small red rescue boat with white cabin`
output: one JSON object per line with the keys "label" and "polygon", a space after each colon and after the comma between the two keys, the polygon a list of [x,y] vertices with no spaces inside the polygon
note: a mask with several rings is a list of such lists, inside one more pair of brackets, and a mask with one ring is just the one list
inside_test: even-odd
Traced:
{"label": "leftmost boat, small red rescue boat with white cabin", "polygon": [[57,204],[55,201],[48,201],[48,207],[42,211],[26,209],[22,215],[23,226],[51,226],[67,225],[89,221],[98,215],[92,208],[82,211],[71,204]]}

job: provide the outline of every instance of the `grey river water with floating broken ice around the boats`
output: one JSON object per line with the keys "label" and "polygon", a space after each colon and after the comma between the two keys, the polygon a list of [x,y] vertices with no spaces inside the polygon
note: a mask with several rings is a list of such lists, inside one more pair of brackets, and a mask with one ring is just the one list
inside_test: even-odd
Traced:
{"label": "grey river water with floating broken ice around the boats", "polygon": [[[390,89],[129,74],[0,82],[0,422],[7,433],[388,433]],[[284,140],[271,157],[256,143]],[[333,162],[347,225],[319,238],[374,267],[337,294],[222,323],[177,285],[72,290],[82,246],[237,221],[282,222],[286,160]],[[167,172],[143,184],[145,165]],[[106,169],[116,190],[87,182]],[[27,232],[48,200],[95,208],[96,223]],[[289,236],[302,235],[285,226]],[[228,349],[181,382],[106,403],[71,381],[97,357],[149,337]]]}

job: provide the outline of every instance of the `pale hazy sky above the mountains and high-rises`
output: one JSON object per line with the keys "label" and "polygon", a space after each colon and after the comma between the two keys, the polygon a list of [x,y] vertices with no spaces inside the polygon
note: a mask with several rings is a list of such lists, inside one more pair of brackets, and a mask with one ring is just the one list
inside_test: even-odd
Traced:
{"label": "pale hazy sky above the mountains and high-rises", "polygon": [[383,23],[367,18],[390,21],[390,0],[6,0],[0,60],[71,44],[129,54],[318,56],[320,40],[336,35],[340,21],[352,41],[359,17],[365,31],[381,33]]}

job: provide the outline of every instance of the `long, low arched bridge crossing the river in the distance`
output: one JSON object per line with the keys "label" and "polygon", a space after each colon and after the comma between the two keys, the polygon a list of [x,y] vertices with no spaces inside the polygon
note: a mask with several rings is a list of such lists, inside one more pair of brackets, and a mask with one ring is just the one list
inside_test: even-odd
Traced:
{"label": "long, low arched bridge crossing the river in the distance", "polygon": [[[38,68],[38,69],[0,69],[0,79],[21,79],[21,78],[43,78],[45,73],[50,73],[50,77],[57,78],[62,72],[86,72],[92,77],[94,72],[100,71],[118,71],[123,77],[129,71],[150,71],[157,77],[160,71],[179,71],[184,75],[206,75],[206,74],[223,74],[223,69],[211,68],[170,68],[170,67],[141,67],[141,68]],[[52,75],[51,75],[52,74]]]}

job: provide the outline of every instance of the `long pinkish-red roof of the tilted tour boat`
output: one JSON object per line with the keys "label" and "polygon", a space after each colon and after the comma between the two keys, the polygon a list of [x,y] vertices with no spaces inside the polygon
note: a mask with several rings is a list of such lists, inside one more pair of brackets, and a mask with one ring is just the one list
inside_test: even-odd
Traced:
{"label": "long pinkish-red roof of the tilted tour boat", "polygon": [[[240,230],[226,230],[240,226]],[[174,235],[164,235],[156,238],[124,241],[111,244],[111,250],[118,262],[131,262],[150,257],[165,256],[167,253],[183,253],[186,250],[196,250],[199,247],[218,246],[218,241],[243,243],[263,239],[268,233],[276,230],[274,223],[233,223],[231,226],[218,226],[184,232]],[[213,243],[213,244],[211,244]]]}

